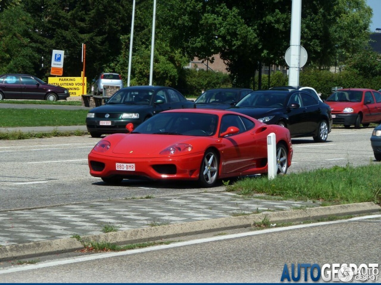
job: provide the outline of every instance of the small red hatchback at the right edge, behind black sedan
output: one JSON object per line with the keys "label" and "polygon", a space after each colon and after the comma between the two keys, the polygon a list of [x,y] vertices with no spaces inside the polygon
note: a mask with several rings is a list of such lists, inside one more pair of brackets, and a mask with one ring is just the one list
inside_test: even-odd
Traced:
{"label": "small red hatchback at the right edge, behind black sedan", "polygon": [[340,89],[325,100],[334,125],[368,127],[381,122],[381,93],[372,89]]}

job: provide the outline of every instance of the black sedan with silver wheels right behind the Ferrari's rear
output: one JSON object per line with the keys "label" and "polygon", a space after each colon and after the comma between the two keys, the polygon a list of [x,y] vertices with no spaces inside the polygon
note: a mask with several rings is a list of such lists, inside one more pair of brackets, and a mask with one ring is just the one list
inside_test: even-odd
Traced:
{"label": "black sedan with silver wheels right behind the Ferrari's rear", "polygon": [[290,130],[292,138],[312,136],[325,142],[331,131],[331,108],[303,90],[259,90],[246,95],[229,111]]}

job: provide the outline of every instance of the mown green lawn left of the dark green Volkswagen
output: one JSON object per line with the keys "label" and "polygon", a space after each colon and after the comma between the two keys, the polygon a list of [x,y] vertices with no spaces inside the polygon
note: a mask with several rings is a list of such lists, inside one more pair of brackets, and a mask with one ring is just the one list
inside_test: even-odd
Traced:
{"label": "mown green lawn left of the dark green Volkswagen", "polygon": [[86,124],[88,110],[0,109],[0,127],[76,126]]}

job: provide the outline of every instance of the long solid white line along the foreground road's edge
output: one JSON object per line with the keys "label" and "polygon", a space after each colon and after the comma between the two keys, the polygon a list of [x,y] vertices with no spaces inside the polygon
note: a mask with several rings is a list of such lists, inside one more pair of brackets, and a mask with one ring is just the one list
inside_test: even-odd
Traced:
{"label": "long solid white line along the foreground road's edge", "polygon": [[286,227],[281,227],[281,228],[269,228],[266,230],[250,231],[247,233],[238,233],[238,234],[228,234],[226,236],[207,237],[207,238],[203,238],[203,239],[194,239],[191,241],[176,242],[173,244],[155,245],[152,247],[146,247],[146,248],[142,248],[142,249],[126,250],[126,251],[122,251],[122,252],[96,253],[96,254],[87,255],[87,256],[75,256],[75,257],[71,257],[71,258],[65,258],[62,260],[45,261],[45,262],[41,262],[41,263],[37,263],[37,264],[29,264],[28,266],[20,265],[20,266],[14,266],[12,268],[0,269],[0,274],[10,273],[10,272],[18,272],[18,271],[26,271],[26,270],[51,267],[51,266],[58,266],[58,265],[62,265],[62,264],[70,264],[70,263],[76,263],[76,262],[82,262],[82,261],[97,260],[97,259],[109,258],[109,257],[114,257],[114,256],[130,255],[130,254],[134,254],[134,253],[149,252],[149,251],[160,250],[160,249],[169,249],[169,248],[173,248],[173,247],[181,247],[181,246],[190,245],[190,244],[202,244],[204,242],[221,241],[224,239],[233,239],[236,237],[255,236],[257,234],[274,233],[274,232],[278,232],[278,231],[287,231],[287,230],[294,230],[294,229],[299,229],[299,228],[309,228],[311,226],[331,225],[331,224],[335,224],[335,223],[345,223],[345,222],[350,222],[350,221],[358,221],[358,220],[363,220],[363,219],[368,219],[368,218],[379,218],[379,217],[381,217],[381,215],[369,215],[369,216],[363,216],[363,217],[350,218],[347,220],[336,220],[336,221],[331,221],[331,222],[320,222],[320,223],[312,223],[312,224],[286,226]]}

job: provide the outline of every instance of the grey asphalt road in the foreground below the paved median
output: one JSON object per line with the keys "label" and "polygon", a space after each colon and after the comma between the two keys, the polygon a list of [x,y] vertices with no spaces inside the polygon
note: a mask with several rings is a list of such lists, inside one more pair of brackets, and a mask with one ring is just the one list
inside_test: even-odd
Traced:
{"label": "grey asphalt road in the foreground below the paved median", "polygon": [[[357,267],[379,264],[380,223],[378,217],[215,235],[169,246],[16,266],[8,268],[8,273],[0,271],[0,280],[5,283],[279,283],[285,264],[290,274],[292,263],[296,266],[316,263],[320,268],[335,263],[353,263]],[[300,277],[303,283],[304,268]],[[377,277],[380,280],[379,272]],[[307,282],[312,282],[309,271]]]}

